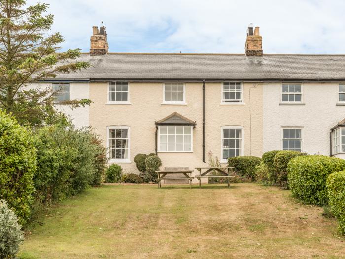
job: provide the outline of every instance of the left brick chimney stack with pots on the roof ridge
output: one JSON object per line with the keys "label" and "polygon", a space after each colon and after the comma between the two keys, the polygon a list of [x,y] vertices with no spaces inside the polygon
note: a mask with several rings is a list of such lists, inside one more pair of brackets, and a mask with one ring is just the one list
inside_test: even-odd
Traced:
{"label": "left brick chimney stack with pots on the roof ridge", "polygon": [[109,45],[106,36],[105,26],[101,26],[100,30],[98,30],[97,26],[92,27],[90,56],[105,55],[108,53]]}

